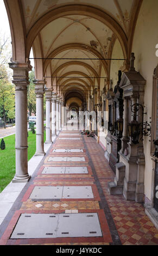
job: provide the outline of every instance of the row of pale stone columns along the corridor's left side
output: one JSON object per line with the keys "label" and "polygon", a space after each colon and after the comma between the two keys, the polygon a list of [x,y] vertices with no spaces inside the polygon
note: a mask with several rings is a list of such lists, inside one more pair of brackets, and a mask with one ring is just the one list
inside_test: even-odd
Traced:
{"label": "row of pale stone columns along the corridor's left side", "polygon": [[[27,86],[29,63],[21,65],[9,63],[14,70],[13,83],[15,84],[16,108],[16,173],[12,182],[28,182],[28,142],[27,142]],[[20,78],[21,77],[21,78]],[[46,95],[46,144],[52,143],[52,136],[58,135],[64,125],[64,100],[52,89],[45,89],[45,81],[34,80],[36,94],[36,152],[35,156],[45,155],[44,125],[43,125],[43,94]]]}

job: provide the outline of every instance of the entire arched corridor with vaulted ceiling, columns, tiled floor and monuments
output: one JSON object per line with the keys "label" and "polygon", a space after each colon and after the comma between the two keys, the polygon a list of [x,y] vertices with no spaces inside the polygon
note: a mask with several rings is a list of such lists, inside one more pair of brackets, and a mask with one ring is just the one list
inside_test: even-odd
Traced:
{"label": "entire arched corridor with vaulted ceiling, columns, tiled floor and monuments", "polygon": [[157,1],[4,3],[16,88],[12,186],[24,185],[0,223],[0,244],[157,245]]}

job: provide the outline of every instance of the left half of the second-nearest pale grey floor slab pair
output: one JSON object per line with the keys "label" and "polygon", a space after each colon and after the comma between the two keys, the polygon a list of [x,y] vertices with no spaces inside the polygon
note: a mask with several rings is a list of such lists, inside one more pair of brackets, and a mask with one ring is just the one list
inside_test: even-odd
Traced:
{"label": "left half of the second-nearest pale grey floor slab pair", "polygon": [[35,186],[30,199],[61,199],[63,186]]}

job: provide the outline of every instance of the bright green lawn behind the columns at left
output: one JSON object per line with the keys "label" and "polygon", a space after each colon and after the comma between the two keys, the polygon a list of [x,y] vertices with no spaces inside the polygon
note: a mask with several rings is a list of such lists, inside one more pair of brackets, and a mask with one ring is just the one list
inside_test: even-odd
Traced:
{"label": "bright green lawn behind the columns at left", "polygon": [[[36,135],[28,131],[28,161],[36,151]],[[44,132],[44,142],[46,131]],[[5,149],[0,149],[0,193],[15,175],[15,135],[4,138]]]}

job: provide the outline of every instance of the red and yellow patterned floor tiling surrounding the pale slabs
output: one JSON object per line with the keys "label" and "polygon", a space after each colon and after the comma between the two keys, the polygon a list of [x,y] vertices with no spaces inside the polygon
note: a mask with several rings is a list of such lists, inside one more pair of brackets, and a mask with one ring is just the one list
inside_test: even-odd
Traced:
{"label": "red and yellow patterned floor tiling surrounding the pale slabs", "polygon": [[[60,140],[59,138],[67,138]],[[79,137],[79,140],[73,138]],[[53,152],[54,149],[83,149],[79,152]],[[75,150],[78,151],[78,150]],[[74,161],[49,161],[50,157],[75,157]],[[85,161],[77,161],[84,157]],[[60,161],[59,161],[60,160]],[[44,173],[45,167],[87,167],[88,173]],[[71,168],[71,169],[72,169]],[[60,132],[48,154],[36,169],[28,184],[24,187],[15,204],[0,226],[0,245],[158,245],[158,231],[144,214],[142,204],[127,201],[123,196],[110,196],[108,182],[114,174],[104,157],[104,150],[96,140],[83,136],[79,131]],[[34,188],[38,187],[89,187],[93,198],[38,199],[30,198]],[[50,190],[51,191],[51,190]],[[75,194],[75,193],[74,193]],[[97,214],[102,236],[89,237],[52,237],[11,239],[21,214]],[[75,218],[77,218],[75,216]],[[71,227],[73,228],[73,227]],[[73,230],[75,231],[75,230]]]}

